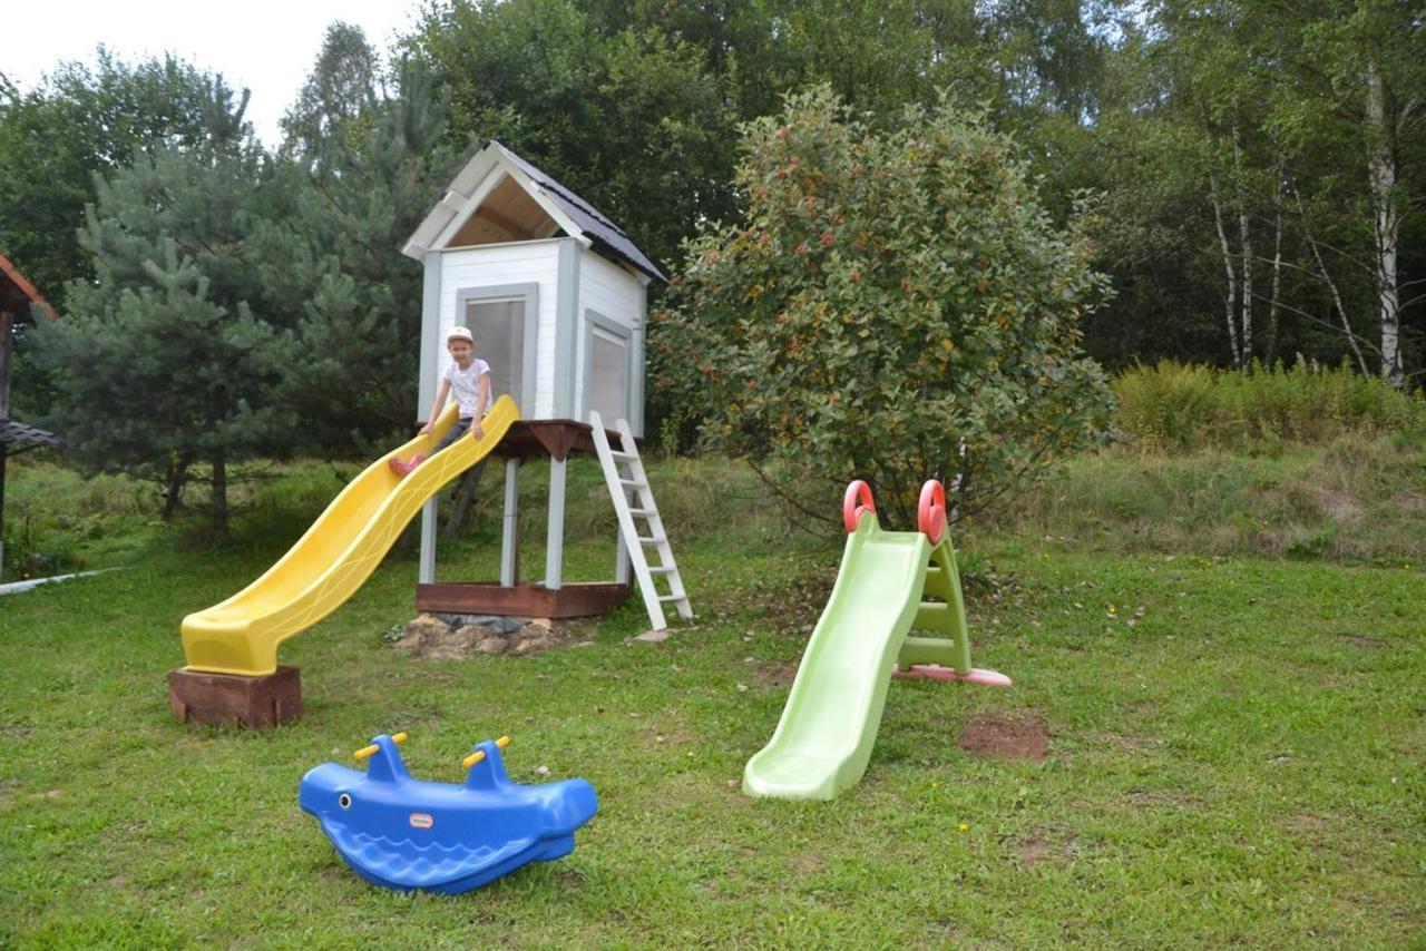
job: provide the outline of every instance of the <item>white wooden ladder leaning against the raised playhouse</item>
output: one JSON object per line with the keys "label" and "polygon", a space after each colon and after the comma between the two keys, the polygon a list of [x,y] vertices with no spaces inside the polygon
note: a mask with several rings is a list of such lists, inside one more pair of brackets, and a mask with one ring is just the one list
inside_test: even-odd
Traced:
{"label": "white wooden ladder leaning against the raised playhouse", "polygon": [[[635,577],[639,579],[639,590],[643,593],[643,606],[649,610],[649,622],[653,630],[663,630],[669,623],[663,617],[663,606],[673,605],[679,617],[692,619],[693,607],[689,606],[689,595],[683,590],[683,579],[679,576],[679,566],[673,563],[673,549],[669,546],[669,533],[663,529],[663,519],[659,518],[659,506],[653,502],[653,489],[649,488],[649,476],[643,471],[643,461],[639,458],[639,446],[633,441],[633,432],[626,419],[615,421],[615,431],[619,433],[619,448],[609,445],[603,421],[596,411],[589,411],[589,425],[593,429],[595,449],[599,453],[599,465],[605,471],[605,482],[609,485],[609,498],[613,499],[615,513],[619,516],[619,539],[623,549],[619,553],[619,580],[627,580],[625,575],[625,553],[633,565]],[[619,466],[627,468],[627,475],[619,472]],[[633,505],[629,505],[633,496]],[[636,519],[643,520],[645,535],[639,533]],[[649,565],[649,550],[659,553],[659,563]],[[660,595],[655,585],[656,577],[667,582],[667,595]]]}

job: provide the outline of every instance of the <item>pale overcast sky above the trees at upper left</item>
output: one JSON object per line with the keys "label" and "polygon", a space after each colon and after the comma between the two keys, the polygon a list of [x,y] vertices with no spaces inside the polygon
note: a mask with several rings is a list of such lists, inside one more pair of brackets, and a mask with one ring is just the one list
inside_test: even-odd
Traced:
{"label": "pale overcast sky above the trees at upper left", "polygon": [[93,64],[100,43],[130,63],[174,53],[252,90],[248,118],[275,145],[278,118],[312,70],[328,23],[359,26],[385,53],[419,10],[421,0],[17,0],[0,17],[0,73],[30,90],[60,63]]}

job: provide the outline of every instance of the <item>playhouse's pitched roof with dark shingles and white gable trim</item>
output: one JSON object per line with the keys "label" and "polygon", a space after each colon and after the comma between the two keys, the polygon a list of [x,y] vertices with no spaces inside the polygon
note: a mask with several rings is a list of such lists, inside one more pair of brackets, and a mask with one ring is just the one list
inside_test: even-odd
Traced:
{"label": "playhouse's pitched roof with dark shingles and white gable trim", "polygon": [[650,278],[667,279],[653,261],[635,247],[619,225],[495,140],[491,140],[489,145],[465,164],[446,194],[435,204],[425,221],[416,227],[401,252],[419,259],[421,255],[432,250],[452,221],[458,217],[469,218],[503,177],[515,180],[572,238],[586,241]]}

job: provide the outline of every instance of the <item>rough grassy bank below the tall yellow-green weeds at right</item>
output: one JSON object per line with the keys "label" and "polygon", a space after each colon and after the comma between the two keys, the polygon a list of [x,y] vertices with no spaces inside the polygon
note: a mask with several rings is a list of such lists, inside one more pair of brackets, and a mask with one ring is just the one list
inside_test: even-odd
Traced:
{"label": "rough grassy bank below the tall yellow-green weeds at right", "polygon": [[1340,436],[1271,456],[1112,446],[1070,459],[965,535],[968,545],[1014,535],[1047,549],[1117,555],[1422,565],[1426,446],[1386,436]]}

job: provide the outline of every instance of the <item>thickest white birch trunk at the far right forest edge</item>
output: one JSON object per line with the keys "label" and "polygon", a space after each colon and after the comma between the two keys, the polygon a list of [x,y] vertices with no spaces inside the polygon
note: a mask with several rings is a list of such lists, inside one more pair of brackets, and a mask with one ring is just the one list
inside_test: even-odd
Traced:
{"label": "thickest white birch trunk at the far right forest edge", "polygon": [[1372,178],[1373,232],[1376,238],[1376,314],[1382,324],[1382,376],[1392,386],[1406,386],[1406,368],[1400,349],[1400,295],[1396,284],[1396,235],[1400,215],[1396,211],[1396,157],[1386,127],[1386,90],[1376,61],[1366,61],[1366,120],[1370,138],[1368,174]]}

